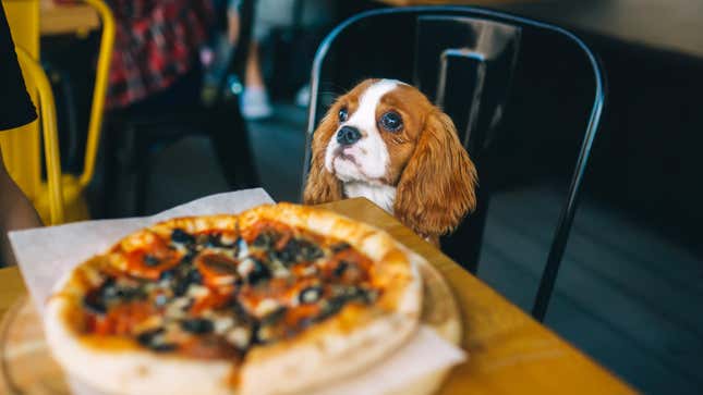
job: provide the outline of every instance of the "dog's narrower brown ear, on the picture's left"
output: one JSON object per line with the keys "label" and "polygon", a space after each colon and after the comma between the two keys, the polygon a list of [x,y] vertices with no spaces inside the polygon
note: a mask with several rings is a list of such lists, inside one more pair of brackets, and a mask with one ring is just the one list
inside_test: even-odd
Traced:
{"label": "dog's narrower brown ear, on the picture's left", "polygon": [[338,111],[336,109],[337,106],[332,106],[313,135],[311,169],[303,194],[305,205],[318,205],[342,198],[341,182],[325,169],[327,144],[337,131],[337,122],[334,116]]}

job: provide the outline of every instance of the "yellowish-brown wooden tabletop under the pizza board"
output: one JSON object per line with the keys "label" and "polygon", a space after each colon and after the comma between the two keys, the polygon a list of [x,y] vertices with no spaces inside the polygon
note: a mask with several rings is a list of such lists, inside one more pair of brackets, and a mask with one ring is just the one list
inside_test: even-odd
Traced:
{"label": "yellowish-brown wooden tabletop under the pizza board", "polygon": [[[389,232],[427,258],[449,283],[461,310],[469,360],[454,368],[440,394],[634,393],[368,200],[324,206]],[[0,270],[0,316],[23,294],[19,271]]]}

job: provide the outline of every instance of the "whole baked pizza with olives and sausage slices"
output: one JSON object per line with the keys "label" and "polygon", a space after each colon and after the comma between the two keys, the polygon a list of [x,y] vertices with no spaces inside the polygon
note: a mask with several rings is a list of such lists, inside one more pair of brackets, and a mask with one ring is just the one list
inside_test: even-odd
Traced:
{"label": "whole baked pizza with olives and sausage slices", "polygon": [[177,218],[77,266],[47,301],[52,355],[110,394],[293,394],[417,329],[414,256],[330,211]]}

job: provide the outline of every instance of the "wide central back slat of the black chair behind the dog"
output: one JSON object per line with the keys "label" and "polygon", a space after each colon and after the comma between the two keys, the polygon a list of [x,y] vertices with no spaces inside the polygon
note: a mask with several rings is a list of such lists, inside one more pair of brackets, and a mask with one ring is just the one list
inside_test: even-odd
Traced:
{"label": "wide central back slat of the black chair behind the dog", "polygon": [[[416,18],[413,83],[454,122],[459,138],[484,174],[482,151],[495,136],[508,98],[522,28],[462,15]],[[476,273],[489,201],[488,183],[477,188],[478,205],[450,235],[445,254]]]}

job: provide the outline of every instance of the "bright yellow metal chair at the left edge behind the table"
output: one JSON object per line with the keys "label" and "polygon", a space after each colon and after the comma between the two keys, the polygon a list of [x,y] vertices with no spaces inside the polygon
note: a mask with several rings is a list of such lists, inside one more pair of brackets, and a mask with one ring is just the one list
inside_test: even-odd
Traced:
{"label": "bright yellow metal chair at the left edge behind the table", "polygon": [[[95,174],[95,162],[100,141],[100,129],[102,126],[102,115],[105,109],[105,97],[107,92],[108,76],[110,72],[110,59],[114,42],[114,18],[112,12],[102,0],[83,0],[86,4],[93,7],[102,23],[102,34],[100,38],[100,51],[96,67],[95,87],[93,89],[93,103],[90,107],[90,120],[88,123],[88,133],[86,150],[84,157],[83,172],[75,176],[73,174],[62,174],[61,184],[63,201],[65,207],[65,222],[87,220],[89,218],[88,207],[85,200],[85,188],[90,183]],[[12,30],[16,47],[27,49],[28,53],[35,59],[39,54],[39,2],[37,0],[3,0],[3,5],[8,14],[8,21]],[[19,139],[25,138],[20,133],[14,133]],[[37,135],[38,136],[38,135]],[[12,139],[17,139],[9,137]],[[41,182],[40,172],[37,171],[39,165],[38,137],[36,140],[24,140],[16,143],[25,148],[31,146],[31,150],[16,152],[27,152],[22,155],[23,158],[14,157],[20,162],[26,162],[31,157],[32,165],[15,165],[12,161],[7,161],[11,174],[20,187],[33,200],[39,215],[46,221],[49,218],[51,198],[49,188],[46,183]],[[4,146],[3,146],[4,148]],[[3,149],[3,152],[5,150]],[[36,164],[36,166],[35,166]],[[22,169],[26,170],[22,170]]]}

